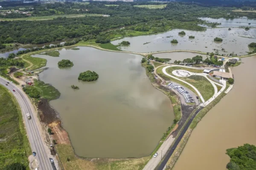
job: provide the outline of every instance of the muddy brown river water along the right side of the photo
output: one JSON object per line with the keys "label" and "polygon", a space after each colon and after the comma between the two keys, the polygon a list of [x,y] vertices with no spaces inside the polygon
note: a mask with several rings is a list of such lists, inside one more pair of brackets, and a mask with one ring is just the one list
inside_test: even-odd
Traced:
{"label": "muddy brown river water along the right side of the photo", "polygon": [[233,89],[198,123],[173,170],[226,170],[226,150],[256,145],[256,56],[232,68]]}

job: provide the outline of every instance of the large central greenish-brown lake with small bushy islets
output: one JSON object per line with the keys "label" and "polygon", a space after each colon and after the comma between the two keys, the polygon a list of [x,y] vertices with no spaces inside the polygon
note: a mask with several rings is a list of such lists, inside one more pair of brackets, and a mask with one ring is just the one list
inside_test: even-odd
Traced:
{"label": "large central greenish-brown lake with small bushy islets", "polygon": [[[47,59],[49,67],[39,78],[61,92],[50,104],[59,112],[75,153],[87,158],[148,156],[172,125],[171,101],[151,85],[142,56],[79,48],[61,49],[60,57],[35,55]],[[62,59],[74,66],[59,69]],[[99,79],[79,81],[79,73],[87,70],[97,72]]]}

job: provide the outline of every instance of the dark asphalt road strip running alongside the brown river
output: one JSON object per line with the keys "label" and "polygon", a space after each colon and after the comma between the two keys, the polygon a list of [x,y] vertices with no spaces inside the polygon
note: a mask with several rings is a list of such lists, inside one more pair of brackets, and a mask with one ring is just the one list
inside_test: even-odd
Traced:
{"label": "dark asphalt road strip running alongside the brown river", "polygon": [[166,153],[166,157],[163,159],[163,162],[160,164],[159,167],[157,167],[157,170],[163,170],[164,167],[166,166],[167,161],[169,160],[169,158],[172,156],[172,153],[175,151],[177,145],[180,143],[180,140],[182,139],[183,135],[186,133],[186,130],[188,130],[189,125],[191,124],[192,120],[195,118],[195,116],[198,114],[198,112],[203,109],[204,107],[200,107],[200,109],[198,109],[194,115],[192,115],[192,117],[189,119],[189,121],[187,122],[187,124],[185,125],[185,127],[183,128],[183,130],[181,131],[180,135],[178,136],[177,140],[175,141],[175,143],[173,144],[172,148],[167,151]]}

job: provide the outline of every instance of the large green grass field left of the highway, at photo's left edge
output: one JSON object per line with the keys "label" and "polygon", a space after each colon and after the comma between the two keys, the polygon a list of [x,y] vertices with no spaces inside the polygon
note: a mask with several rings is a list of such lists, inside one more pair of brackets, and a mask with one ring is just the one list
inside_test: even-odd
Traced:
{"label": "large green grass field left of the highway, at photo's left edge", "polygon": [[0,169],[20,162],[29,170],[31,154],[20,107],[15,97],[0,85]]}

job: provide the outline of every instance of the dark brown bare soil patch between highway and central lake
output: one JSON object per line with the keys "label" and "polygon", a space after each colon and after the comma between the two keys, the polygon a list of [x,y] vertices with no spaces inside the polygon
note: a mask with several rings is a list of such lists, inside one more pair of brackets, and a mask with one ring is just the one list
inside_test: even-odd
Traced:
{"label": "dark brown bare soil patch between highway and central lake", "polygon": [[53,109],[47,99],[42,99],[42,104],[38,104],[38,112],[41,122],[45,124],[51,124],[52,122],[58,122],[59,117],[55,109]]}

